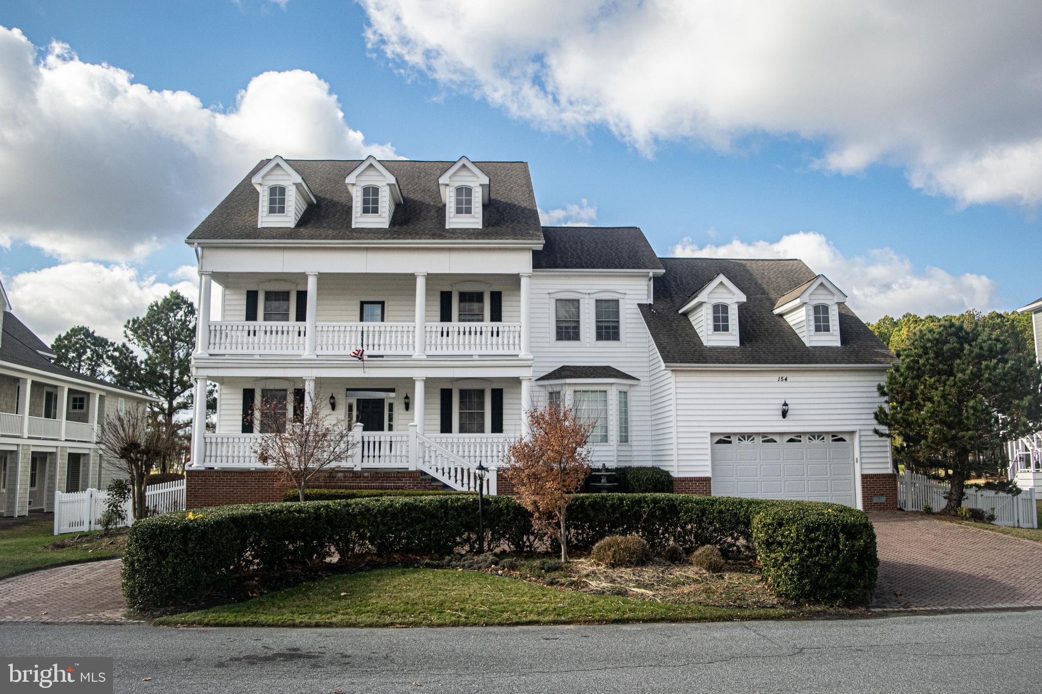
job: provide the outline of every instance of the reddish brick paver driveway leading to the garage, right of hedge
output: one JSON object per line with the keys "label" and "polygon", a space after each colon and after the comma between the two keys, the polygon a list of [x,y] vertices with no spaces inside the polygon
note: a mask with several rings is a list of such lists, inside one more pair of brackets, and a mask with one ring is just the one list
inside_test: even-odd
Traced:
{"label": "reddish brick paver driveway leading to the garage, right of hedge", "polygon": [[1042,544],[920,514],[871,518],[873,609],[1042,607]]}

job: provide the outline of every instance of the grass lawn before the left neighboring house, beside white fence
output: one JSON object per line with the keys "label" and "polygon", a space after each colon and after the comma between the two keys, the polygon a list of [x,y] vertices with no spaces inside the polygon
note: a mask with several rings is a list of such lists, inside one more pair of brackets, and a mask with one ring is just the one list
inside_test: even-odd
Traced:
{"label": "grass lawn before the left neighboring house, beside white fence", "polygon": [[[123,555],[126,534],[102,537],[99,533],[81,533],[81,539],[60,549],[47,547],[58,540],[72,540],[76,534],[52,535],[51,516],[30,518],[11,528],[0,530],[0,579],[17,573],[46,569],[63,564],[93,562]],[[84,537],[85,536],[85,537]]]}

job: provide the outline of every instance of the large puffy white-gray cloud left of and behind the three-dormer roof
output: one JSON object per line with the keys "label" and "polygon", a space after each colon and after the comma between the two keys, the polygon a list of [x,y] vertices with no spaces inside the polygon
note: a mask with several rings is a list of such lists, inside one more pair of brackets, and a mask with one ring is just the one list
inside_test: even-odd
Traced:
{"label": "large puffy white-gray cloud left of and behind the three-dormer roof", "polygon": [[394,157],[309,72],[267,72],[233,108],[154,91],[0,27],[0,226],[59,259],[135,260],[183,238],[257,160]]}

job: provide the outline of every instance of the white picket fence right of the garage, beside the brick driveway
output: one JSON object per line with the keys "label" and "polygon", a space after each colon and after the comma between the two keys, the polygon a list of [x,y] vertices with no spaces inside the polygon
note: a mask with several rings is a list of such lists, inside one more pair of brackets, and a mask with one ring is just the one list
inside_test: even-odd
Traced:
{"label": "white picket fence right of the garage, beside the brick driveway", "polygon": [[[898,505],[905,511],[922,511],[928,504],[936,512],[947,505],[949,485],[927,478],[925,474],[915,474],[905,471],[900,478]],[[1024,489],[1016,496],[986,489],[966,487],[963,493],[963,507],[981,509],[995,514],[995,524],[1007,528],[1038,528],[1038,508],[1035,505],[1035,490]]]}

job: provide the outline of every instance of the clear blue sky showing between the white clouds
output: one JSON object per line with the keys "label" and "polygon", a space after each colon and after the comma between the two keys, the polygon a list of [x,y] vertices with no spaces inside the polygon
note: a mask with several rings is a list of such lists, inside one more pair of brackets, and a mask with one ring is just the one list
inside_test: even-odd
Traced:
{"label": "clear blue sky showing between the white clouds", "polygon": [[[718,254],[726,254],[734,240],[740,243],[730,249],[745,255],[754,254],[754,245],[761,241],[766,246],[760,248],[775,254],[789,249],[798,252],[810,245],[814,252],[808,251],[812,257],[805,259],[812,266],[814,258],[830,253],[832,260],[822,261],[828,265],[824,269],[847,274],[844,268],[853,268],[849,278],[833,278],[848,292],[852,288],[848,282],[871,278],[873,273],[886,275],[878,290],[889,292],[887,297],[873,299],[866,290],[862,305],[855,306],[868,318],[884,310],[962,310],[965,306],[950,294],[966,287],[976,289],[967,301],[986,305],[964,304],[984,309],[1008,310],[1042,293],[1035,272],[1042,251],[1042,223],[1034,198],[1025,203],[1020,192],[1001,191],[974,198],[972,192],[952,192],[954,184],[943,182],[913,185],[910,177],[915,177],[922,162],[912,160],[901,145],[853,171],[823,166],[821,161],[837,147],[836,132],[842,128],[829,132],[819,125],[758,126],[753,122],[733,130],[734,136],[721,145],[716,134],[693,135],[684,127],[671,132],[663,126],[650,137],[650,146],[632,125],[641,114],[627,115],[630,122],[625,126],[618,126],[615,117],[594,117],[578,128],[559,128],[553,114],[534,117],[536,109],[530,105],[489,97],[488,89],[482,93],[473,84],[461,86],[458,76],[466,76],[469,69],[466,57],[453,58],[453,67],[446,69],[422,58],[403,59],[400,51],[395,52],[403,35],[413,45],[428,42],[428,48],[437,37],[408,35],[411,29],[405,28],[394,35],[384,31],[380,40],[367,45],[365,28],[373,14],[382,9],[377,7],[381,4],[377,0],[365,7],[303,0],[289,0],[284,6],[260,0],[8,0],[0,9],[0,25],[20,29],[36,48],[38,62],[52,41],[63,42],[82,63],[128,71],[133,83],[154,92],[191,93],[204,108],[220,112],[234,110],[237,95],[262,73],[314,73],[339,99],[347,127],[361,131],[365,143],[387,144],[398,155],[416,159],[455,159],[465,154],[475,160],[526,160],[540,207],[562,210],[557,219],[563,221],[638,225],[661,255],[670,254],[685,238],[690,239],[688,252],[712,247],[709,252]],[[518,48],[521,57],[525,50]],[[542,59],[552,62],[544,54],[537,65]],[[685,87],[677,83],[674,88]],[[967,94],[966,99],[972,100],[973,95]],[[584,105],[589,106],[589,101]],[[562,109],[562,120],[567,117]],[[815,129],[818,134],[801,132]],[[1010,134],[1011,142],[1019,142],[1018,137],[1031,140],[1029,133]],[[259,143],[256,151],[265,151],[264,145]],[[101,152],[93,166],[118,170],[120,157],[106,161],[105,150]],[[288,154],[269,152],[275,153]],[[156,157],[152,164],[162,168],[164,159]],[[11,285],[23,274],[89,262],[129,268],[137,273],[138,289],[151,281],[160,285],[189,282],[191,276],[178,268],[193,264],[194,258],[179,239],[191,231],[192,220],[200,220],[212,206],[213,195],[219,199],[248,169],[230,179],[218,179],[215,185],[224,189],[178,221],[180,232],[169,226],[154,232],[157,240],[149,247],[151,252],[133,257],[119,257],[118,252],[66,253],[61,247],[71,247],[65,241],[45,242],[41,248],[32,245],[33,234],[47,229],[26,229],[23,223],[8,222],[8,229],[16,231],[7,233],[6,251],[0,248],[0,275]],[[113,175],[118,181],[119,174]],[[176,179],[176,172],[170,175]],[[41,200],[40,204],[61,206],[65,202]],[[564,211],[568,205],[587,211],[568,214]],[[0,240],[4,231],[0,215]],[[777,246],[783,237],[798,232],[816,235],[804,234],[791,238],[788,246]],[[76,232],[66,229],[61,233],[67,238]],[[102,225],[82,232],[82,240],[90,245],[92,234],[104,233]],[[145,235],[150,233],[143,230]],[[884,258],[878,249],[891,253]],[[929,266],[943,271],[943,276],[932,277]],[[902,273],[915,281],[903,289],[895,288],[893,283],[907,279]],[[989,281],[964,281],[967,274],[986,276]],[[920,299],[917,287],[932,284],[937,291],[922,292]],[[21,282],[15,292],[16,310],[20,301],[28,302],[29,310],[45,310],[29,297],[33,286],[39,282],[29,282],[28,276]],[[54,318],[54,329],[64,319],[72,318]]]}

